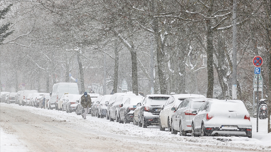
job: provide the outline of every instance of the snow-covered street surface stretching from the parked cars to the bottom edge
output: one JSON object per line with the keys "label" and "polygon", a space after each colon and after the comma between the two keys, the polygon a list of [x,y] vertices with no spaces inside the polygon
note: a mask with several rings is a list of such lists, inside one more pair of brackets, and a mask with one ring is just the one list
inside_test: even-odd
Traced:
{"label": "snow-covered street surface stretching from the parked cars to the bottom edge", "polygon": [[[247,137],[183,137],[87,115],[0,103],[5,151],[262,151],[271,150],[267,119],[252,118]],[[193,150],[191,150],[193,149]]]}

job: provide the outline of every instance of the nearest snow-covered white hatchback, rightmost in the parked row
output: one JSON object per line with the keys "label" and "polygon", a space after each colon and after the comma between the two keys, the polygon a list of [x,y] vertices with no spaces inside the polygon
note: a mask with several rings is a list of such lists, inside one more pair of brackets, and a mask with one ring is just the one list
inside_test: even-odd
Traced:
{"label": "nearest snow-covered white hatchback, rightmost in the parked row", "polygon": [[241,100],[207,100],[192,120],[192,136],[247,136],[252,138],[252,123]]}

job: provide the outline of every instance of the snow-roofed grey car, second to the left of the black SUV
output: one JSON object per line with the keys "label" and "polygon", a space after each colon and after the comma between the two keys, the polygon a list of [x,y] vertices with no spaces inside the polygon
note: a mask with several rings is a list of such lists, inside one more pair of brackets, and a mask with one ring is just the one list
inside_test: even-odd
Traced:
{"label": "snow-roofed grey car, second to the left of the black SUV", "polygon": [[[114,120],[116,120],[116,122],[120,121],[119,110],[121,108],[121,104],[123,105],[125,101],[131,96],[135,96],[135,95],[121,95],[116,99],[114,104],[112,104],[111,108],[109,109],[110,121],[114,121]],[[120,121],[120,123],[122,122]]]}

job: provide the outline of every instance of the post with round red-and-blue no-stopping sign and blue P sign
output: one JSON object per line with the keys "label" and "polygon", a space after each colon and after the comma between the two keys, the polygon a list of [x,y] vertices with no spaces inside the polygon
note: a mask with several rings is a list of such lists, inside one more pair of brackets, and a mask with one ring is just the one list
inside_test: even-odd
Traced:
{"label": "post with round red-and-blue no-stopping sign and blue P sign", "polygon": [[[260,56],[256,56],[253,58],[253,65],[256,67],[254,68],[254,74],[255,77],[257,75],[257,81],[255,81],[255,77],[253,79],[253,88],[254,91],[257,91],[257,133],[258,133],[258,117],[259,117],[259,91],[262,91],[263,87],[263,80],[261,78],[261,81],[259,81],[259,75],[261,74],[261,68],[263,64],[263,58]],[[261,84],[259,84],[261,82]],[[256,84],[255,84],[256,83]],[[260,90],[261,89],[261,90]]]}

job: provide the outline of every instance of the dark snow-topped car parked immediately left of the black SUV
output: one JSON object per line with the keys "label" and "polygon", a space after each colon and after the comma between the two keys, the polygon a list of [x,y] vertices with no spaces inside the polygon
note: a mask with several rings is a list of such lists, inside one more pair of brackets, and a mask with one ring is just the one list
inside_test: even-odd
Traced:
{"label": "dark snow-topped car parked immediately left of the black SUV", "polygon": [[119,110],[120,123],[128,124],[134,121],[134,110],[137,103],[143,100],[143,98],[143,96],[131,96],[124,104],[121,104],[121,108]]}

